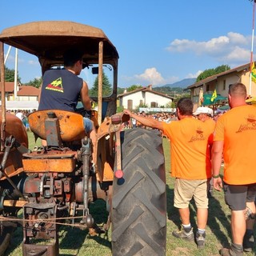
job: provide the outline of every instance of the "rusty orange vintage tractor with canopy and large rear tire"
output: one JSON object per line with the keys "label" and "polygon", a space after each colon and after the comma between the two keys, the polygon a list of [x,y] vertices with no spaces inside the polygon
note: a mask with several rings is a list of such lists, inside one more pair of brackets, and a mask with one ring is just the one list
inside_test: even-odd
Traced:
{"label": "rusty orange vintage tractor with canopy and large rear tire", "polygon": [[[42,74],[62,68],[71,46],[83,53],[87,74],[98,79],[92,120],[92,146],[82,122],[84,111],[35,111],[29,116],[35,138],[28,147],[22,122],[6,113],[4,45],[34,54]],[[100,234],[111,226],[113,255],[166,254],[166,177],[162,137],[156,130],[122,130],[129,117],[116,114],[118,52],[102,30],[76,22],[30,22],[0,34],[1,151],[0,254],[15,226],[22,225],[23,255],[58,255],[58,229],[64,222]],[[28,71],[29,72],[29,71]],[[113,92],[102,96],[102,76]],[[92,154],[97,156],[92,161]],[[98,226],[91,202],[106,201],[109,217]],[[22,218],[18,211],[22,210]]]}

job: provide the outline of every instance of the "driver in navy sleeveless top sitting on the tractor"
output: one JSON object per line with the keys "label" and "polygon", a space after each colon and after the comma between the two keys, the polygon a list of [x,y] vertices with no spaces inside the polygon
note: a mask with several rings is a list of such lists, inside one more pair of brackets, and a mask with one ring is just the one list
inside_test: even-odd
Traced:
{"label": "driver in navy sleeveless top sitting on the tractor", "polygon": [[[78,75],[82,71],[82,54],[75,49],[64,53],[64,69],[46,70],[42,77],[38,110],[67,110],[74,112],[81,98],[86,110],[91,109],[88,86]],[[84,118],[87,134],[96,143],[96,130],[89,118]]]}

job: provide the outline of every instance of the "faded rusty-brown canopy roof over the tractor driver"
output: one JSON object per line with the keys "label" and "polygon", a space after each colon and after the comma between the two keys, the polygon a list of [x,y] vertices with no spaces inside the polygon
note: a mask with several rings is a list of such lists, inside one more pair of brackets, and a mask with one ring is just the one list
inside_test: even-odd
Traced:
{"label": "faded rusty-brown canopy roof over the tractor driver", "polygon": [[[2,30],[0,41],[38,56],[41,65],[63,62],[72,47],[83,53],[88,64],[98,62],[98,44],[103,42],[103,62],[117,65],[118,51],[101,29],[77,22],[29,22]],[[44,69],[43,69],[44,70]]]}

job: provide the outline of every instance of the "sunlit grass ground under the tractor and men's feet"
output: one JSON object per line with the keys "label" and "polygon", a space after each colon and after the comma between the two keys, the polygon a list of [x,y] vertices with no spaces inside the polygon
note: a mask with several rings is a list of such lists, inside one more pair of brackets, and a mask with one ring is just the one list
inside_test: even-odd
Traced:
{"label": "sunlit grass ground under the tractor and men's feet", "polygon": [[[33,136],[29,133],[30,149],[35,145]],[[39,143],[39,144],[38,144]],[[40,145],[40,140],[37,142]],[[174,208],[174,178],[170,176],[170,143],[164,138],[163,147],[166,156],[166,192],[167,192],[167,240],[166,256],[186,255],[219,255],[218,250],[222,246],[228,246],[230,243],[230,210],[224,202],[223,192],[214,191],[214,198],[210,198],[209,219],[206,226],[206,247],[204,250],[198,250],[194,242],[181,241],[172,236],[172,231],[178,229],[181,222],[178,216],[178,210]],[[94,212],[96,222],[101,224],[106,221],[105,202],[98,201],[91,206]],[[194,203],[190,205],[191,224],[196,230],[196,209]],[[77,228],[62,227],[59,232],[60,237],[60,255],[91,255],[108,256],[111,255],[111,234],[101,234],[91,237],[87,230],[78,230]],[[255,250],[255,248],[254,248]],[[6,255],[22,255],[22,228],[14,232],[10,243],[10,249]],[[247,253],[246,256],[254,255]],[[146,255],[150,256],[150,255]]]}

